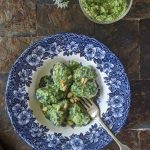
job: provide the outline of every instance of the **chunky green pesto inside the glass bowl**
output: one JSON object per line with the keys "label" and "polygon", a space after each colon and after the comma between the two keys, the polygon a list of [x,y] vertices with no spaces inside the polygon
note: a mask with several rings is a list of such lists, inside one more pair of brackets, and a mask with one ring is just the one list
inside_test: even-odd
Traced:
{"label": "chunky green pesto inside the glass bowl", "polygon": [[85,12],[97,21],[111,22],[127,10],[127,0],[80,0]]}

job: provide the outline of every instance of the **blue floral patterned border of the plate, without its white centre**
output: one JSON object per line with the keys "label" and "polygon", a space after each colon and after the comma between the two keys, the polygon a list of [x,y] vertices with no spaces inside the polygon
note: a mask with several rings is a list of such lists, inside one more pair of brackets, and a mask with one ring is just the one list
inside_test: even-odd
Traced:
{"label": "blue floral patterned border of the plate, without its white centre", "polygon": [[[10,119],[20,136],[36,150],[97,150],[104,148],[111,137],[96,123],[85,132],[68,137],[61,133],[49,134],[46,127],[37,123],[29,107],[27,88],[32,82],[32,72],[46,59],[80,55],[93,61],[104,72],[109,87],[108,109],[102,114],[107,126],[118,133],[125,123],[130,106],[130,86],[123,66],[109,49],[95,39],[72,33],[46,37],[31,45],[16,61],[9,74],[6,102]],[[100,99],[97,103],[100,104]]]}

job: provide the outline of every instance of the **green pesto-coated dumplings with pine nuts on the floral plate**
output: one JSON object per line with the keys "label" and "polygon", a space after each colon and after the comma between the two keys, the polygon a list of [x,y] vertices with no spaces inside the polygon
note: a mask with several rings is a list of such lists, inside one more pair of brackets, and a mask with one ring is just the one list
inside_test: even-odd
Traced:
{"label": "green pesto-coated dumplings with pine nuts on the floral plate", "polygon": [[35,95],[45,117],[55,126],[84,126],[91,118],[79,104],[97,94],[96,72],[76,61],[56,63],[52,76],[41,78]]}

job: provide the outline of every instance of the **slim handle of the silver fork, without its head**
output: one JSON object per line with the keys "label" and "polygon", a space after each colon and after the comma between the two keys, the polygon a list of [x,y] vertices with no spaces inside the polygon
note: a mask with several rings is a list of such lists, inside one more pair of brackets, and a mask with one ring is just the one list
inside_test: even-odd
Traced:
{"label": "slim handle of the silver fork, without its head", "polygon": [[[96,120],[100,123],[100,125],[107,131],[107,133],[114,139],[114,141],[118,144],[120,150],[123,150],[124,145],[114,136],[114,134],[109,130],[109,128],[104,124],[103,120],[100,117],[97,117]],[[124,149],[125,150],[125,149]],[[128,148],[127,150],[131,150]]]}

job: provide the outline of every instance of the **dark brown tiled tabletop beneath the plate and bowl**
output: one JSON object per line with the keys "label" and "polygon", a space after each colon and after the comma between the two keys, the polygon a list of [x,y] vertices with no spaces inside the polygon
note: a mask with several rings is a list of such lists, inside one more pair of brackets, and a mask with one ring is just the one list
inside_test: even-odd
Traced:
{"label": "dark brown tiled tabletop beneath the plate and bowl", "polygon": [[[74,32],[105,43],[128,73],[132,103],[127,124],[117,137],[132,150],[150,150],[150,132],[132,131],[150,117],[150,0],[134,0],[121,21],[98,25],[72,0],[68,9],[57,9],[51,0],[0,0],[0,143],[7,150],[30,150],[14,132],[5,109],[5,86],[16,58],[33,41],[58,32]],[[112,142],[107,150],[117,150]]]}

